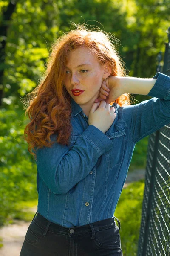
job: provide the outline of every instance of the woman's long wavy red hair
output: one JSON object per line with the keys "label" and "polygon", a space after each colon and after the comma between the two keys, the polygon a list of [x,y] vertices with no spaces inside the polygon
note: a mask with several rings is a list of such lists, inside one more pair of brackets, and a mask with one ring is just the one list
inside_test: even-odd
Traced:
{"label": "woman's long wavy red hair", "polygon": [[[57,143],[69,145],[71,134],[71,96],[64,86],[65,65],[71,50],[88,47],[99,62],[111,67],[110,76],[125,76],[125,67],[113,44],[113,36],[101,30],[91,30],[77,25],[54,41],[43,78],[37,87],[28,93],[26,113],[30,122],[24,130],[28,151],[36,159],[35,148],[51,147],[50,136],[57,134]],[[115,101],[120,106],[130,105],[130,95],[121,95]],[[113,104],[111,102],[111,104]],[[52,142],[52,144],[55,141]],[[31,151],[32,150],[32,151]]]}

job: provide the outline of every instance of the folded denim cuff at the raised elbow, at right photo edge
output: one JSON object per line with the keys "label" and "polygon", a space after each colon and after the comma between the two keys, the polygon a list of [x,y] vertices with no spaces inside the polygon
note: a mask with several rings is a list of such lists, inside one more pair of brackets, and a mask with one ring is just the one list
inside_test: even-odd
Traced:
{"label": "folded denim cuff at the raised elbow, at right photo edge", "polygon": [[170,98],[170,77],[158,72],[153,78],[156,82],[147,95],[164,100]]}

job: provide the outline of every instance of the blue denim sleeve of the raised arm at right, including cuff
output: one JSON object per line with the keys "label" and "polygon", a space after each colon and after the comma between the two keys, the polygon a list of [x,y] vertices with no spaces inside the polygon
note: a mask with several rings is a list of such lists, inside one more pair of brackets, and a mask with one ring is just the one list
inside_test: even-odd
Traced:
{"label": "blue denim sleeve of the raised arm at right, including cuff", "polygon": [[133,143],[170,123],[170,77],[158,72],[153,78],[156,82],[147,94],[153,98],[121,108]]}

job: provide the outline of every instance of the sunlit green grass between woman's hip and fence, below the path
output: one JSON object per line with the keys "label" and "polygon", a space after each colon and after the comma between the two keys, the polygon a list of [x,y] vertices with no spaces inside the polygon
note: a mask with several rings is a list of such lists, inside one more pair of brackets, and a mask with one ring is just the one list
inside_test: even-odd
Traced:
{"label": "sunlit green grass between woman's hip and fence, below the path", "polygon": [[144,180],[122,190],[114,215],[121,223],[120,236],[124,256],[137,256],[141,224]]}

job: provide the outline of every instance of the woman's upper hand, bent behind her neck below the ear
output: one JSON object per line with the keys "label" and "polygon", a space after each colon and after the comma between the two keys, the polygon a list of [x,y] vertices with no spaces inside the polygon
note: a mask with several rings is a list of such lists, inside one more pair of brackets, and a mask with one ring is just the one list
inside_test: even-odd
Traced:
{"label": "woman's upper hand, bent behind her neck below the ear", "polygon": [[124,93],[123,85],[121,84],[122,78],[120,76],[109,76],[106,81],[104,80],[100,87],[99,97],[94,102],[105,100],[106,103],[110,104],[119,98]]}

